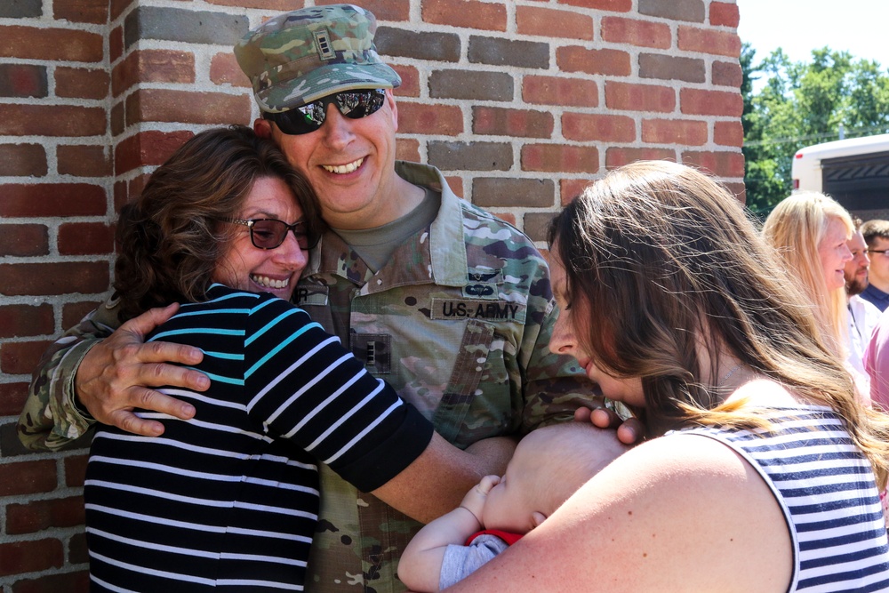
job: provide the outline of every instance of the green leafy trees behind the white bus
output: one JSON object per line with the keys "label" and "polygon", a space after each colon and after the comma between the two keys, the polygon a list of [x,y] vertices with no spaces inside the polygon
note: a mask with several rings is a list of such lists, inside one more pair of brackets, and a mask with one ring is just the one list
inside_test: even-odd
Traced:
{"label": "green leafy trees behind the white bus", "polygon": [[[800,148],[889,131],[889,76],[873,60],[856,60],[828,47],[811,62],[793,62],[777,49],[756,63],[741,47],[747,204],[767,212],[793,187],[790,164]],[[764,79],[757,92],[754,81]]]}

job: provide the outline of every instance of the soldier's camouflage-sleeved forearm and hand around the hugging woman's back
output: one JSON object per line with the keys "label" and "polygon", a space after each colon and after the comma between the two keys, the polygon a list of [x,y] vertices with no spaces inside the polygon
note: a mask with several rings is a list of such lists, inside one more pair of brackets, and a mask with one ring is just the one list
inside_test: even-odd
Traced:
{"label": "soldier's camouflage-sleeved forearm and hand around the hugging woman's back", "polygon": [[163,432],[160,422],[133,414],[135,407],[183,420],[193,416],[193,406],[150,389],[209,387],[203,373],[166,364],[195,365],[203,357],[199,349],[144,343],[145,335],[177,309],[151,309],[115,330],[113,310],[100,307],[56,341],[34,373],[19,421],[22,443],[32,449],[59,449],[83,436],[93,421],[146,436]]}

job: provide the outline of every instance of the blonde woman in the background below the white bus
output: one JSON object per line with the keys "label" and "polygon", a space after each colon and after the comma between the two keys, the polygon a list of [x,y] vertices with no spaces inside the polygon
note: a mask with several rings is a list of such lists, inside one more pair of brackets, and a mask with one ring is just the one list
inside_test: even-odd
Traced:
{"label": "blonde woman in the background below the white bus", "polygon": [[789,196],[765,219],[763,236],[781,255],[788,274],[812,303],[821,338],[847,361],[860,397],[869,402],[869,381],[848,363],[849,312],[845,264],[853,259],[847,244],[855,232],[849,212],[836,200],[817,192]]}

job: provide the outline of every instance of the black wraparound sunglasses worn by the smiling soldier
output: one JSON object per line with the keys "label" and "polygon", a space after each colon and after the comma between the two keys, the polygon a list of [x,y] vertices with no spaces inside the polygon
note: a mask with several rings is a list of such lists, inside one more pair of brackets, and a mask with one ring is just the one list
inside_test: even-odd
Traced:
{"label": "black wraparound sunglasses worn by the smiling soldier", "polygon": [[280,113],[264,111],[262,117],[275,122],[285,134],[308,134],[315,132],[321,124],[324,124],[327,106],[331,103],[340,109],[343,116],[349,119],[361,119],[379,111],[385,101],[386,92],[382,89],[334,92],[332,95]]}

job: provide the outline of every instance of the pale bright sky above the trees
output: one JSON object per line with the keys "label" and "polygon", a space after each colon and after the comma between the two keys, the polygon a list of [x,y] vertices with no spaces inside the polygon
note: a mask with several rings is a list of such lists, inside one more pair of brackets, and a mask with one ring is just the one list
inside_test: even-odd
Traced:
{"label": "pale bright sky above the trees", "polygon": [[737,0],[738,35],[762,60],[781,47],[791,60],[809,61],[828,45],[889,68],[889,0]]}

